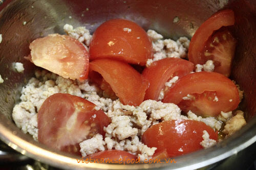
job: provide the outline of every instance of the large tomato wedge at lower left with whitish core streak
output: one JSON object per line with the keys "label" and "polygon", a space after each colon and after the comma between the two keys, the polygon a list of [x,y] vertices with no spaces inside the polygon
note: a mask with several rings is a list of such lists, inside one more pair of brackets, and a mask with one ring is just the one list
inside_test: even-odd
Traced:
{"label": "large tomato wedge at lower left with whitish core streak", "polygon": [[56,93],[38,110],[38,141],[48,147],[80,155],[79,143],[94,134],[105,135],[111,121],[93,103],[75,95]]}

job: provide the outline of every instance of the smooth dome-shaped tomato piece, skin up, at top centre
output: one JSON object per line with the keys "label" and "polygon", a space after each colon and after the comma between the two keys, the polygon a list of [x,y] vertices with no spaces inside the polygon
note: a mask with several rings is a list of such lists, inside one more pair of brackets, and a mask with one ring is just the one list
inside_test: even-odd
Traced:
{"label": "smooth dome-shaped tomato piece, skin up, at top centre", "polygon": [[[124,31],[124,29],[131,31]],[[146,32],[137,23],[112,19],[100,25],[90,43],[90,59],[111,58],[145,65],[153,57],[153,47]]]}

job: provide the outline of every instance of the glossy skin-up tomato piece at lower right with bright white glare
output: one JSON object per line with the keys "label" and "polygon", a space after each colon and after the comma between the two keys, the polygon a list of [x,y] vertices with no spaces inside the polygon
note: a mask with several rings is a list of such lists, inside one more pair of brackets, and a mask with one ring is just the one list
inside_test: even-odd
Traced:
{"label": "glossy skin-up tomato piece at lower right with bright white glare", "polygon": [[174,157],[203,149],[200,142],[204,130],[210,139],[218,139],[217,133],[203,122],[169,120],[148,128],[142,135],[142,141],[148,147],[156,147],[156,153],[166,150],[168,157]]}

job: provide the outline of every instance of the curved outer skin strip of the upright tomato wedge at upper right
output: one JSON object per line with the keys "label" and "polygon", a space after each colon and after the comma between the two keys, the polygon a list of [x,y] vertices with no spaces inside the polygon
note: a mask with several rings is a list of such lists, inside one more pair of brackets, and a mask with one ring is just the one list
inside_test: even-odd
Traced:
{"label": "curved outer skin strip of the upright tomato wedge at upper right", "polygon": [[189,43],[187,54],[189,61],[193,62],[195,65],[204,64],[205,59],[202,55],[202,51],[210,35],[223,26],[232,25],[234,25],[234,12],[230,9],[216,12],[204,21]]}

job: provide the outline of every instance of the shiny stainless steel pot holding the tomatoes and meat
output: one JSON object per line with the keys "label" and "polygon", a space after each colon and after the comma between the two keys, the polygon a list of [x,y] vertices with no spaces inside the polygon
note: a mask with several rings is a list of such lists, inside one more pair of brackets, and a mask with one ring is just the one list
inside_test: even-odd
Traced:
{"label": "shiny stainless steel pot holding the tomatoes and meat", "polygon": [[[5,8],[4,8],[5,7]],[[22,86],[33,75],[33,66],[24,60],[29,43],[50,33],[63,34],[62,27],[86,26],[93,32],[105,20],[126,18],[139,23],[145,30],[154,29],[165,37],[191,37],[200,24],[222,8],[236,14],[234,35],[238,39],[232,76],[244,90],[241,109],[246,111],[248,124],[215,147],[176,157],[177,163],[159,164],[98,164],[77,163],[79,157],[47,148],[24,134],[11,119],[12,108],[18,102]],[[256,1],[241,0],[17,0],[0,6],[0,138],[10,147],[33,159],[66,169],[104,168],[168,168],[194,169],[207,166],[245,149],[256,141]],[[178,18],[178,22],[174,22]],[[13,62],[22,62],[24,74],[15,72]]]}

